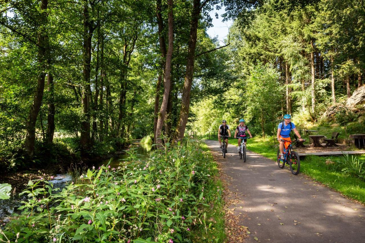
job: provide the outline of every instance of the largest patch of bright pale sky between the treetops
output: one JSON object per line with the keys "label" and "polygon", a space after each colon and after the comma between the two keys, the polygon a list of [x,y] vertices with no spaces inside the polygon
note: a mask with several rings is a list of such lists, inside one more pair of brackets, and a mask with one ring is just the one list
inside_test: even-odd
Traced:
{"label": "largest patch of bright pale sky between the treetops", "polygon": [[[215,13],[218,13],[219,18],[215,18]],[[228,30],[229,27],[233,24],[233,20],[228,20],[226,22],[222,22],[223,18],[220,16],[224,13],[224,7],[216,10],[212,10],[210,12],[210,16],[212,17],[213,21],[213,27],[209,28],[207,30],[207,33],[210,37],[214,38],[215,36],[218,36],[218,40],[220,40],[220,45],[224,45],[223,40],[228,36]]]}

